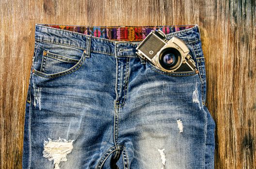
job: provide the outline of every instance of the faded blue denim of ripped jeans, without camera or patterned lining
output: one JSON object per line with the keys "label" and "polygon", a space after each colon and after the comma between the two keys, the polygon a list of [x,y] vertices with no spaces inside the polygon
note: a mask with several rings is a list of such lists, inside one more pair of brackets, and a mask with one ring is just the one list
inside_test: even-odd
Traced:
{"label": "faded blue denim of ripped jeans, without camera or patterned lining", "polygon": [[139,42],[35,26],[23,169],[214,169],[199,28],[182,39],[195,71],[164,72]]}

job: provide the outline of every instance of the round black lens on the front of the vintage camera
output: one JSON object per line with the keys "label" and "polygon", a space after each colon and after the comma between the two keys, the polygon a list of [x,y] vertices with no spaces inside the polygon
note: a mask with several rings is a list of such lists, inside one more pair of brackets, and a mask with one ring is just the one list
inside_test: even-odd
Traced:
{"label": "round black lens on the front of the vintage camera", "polygon": [[176,48],[165,48],[159,55],[159,63],[165,70],[174,70],[181,63],[181,55]]}

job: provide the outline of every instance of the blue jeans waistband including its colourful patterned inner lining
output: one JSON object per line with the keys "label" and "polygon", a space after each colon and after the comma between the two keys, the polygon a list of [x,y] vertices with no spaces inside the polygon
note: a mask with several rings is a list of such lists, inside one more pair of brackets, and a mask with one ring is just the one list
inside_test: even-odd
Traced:
{"label": "blue jeans waistband including its colourful patterned inner lining", "polygon": [[166,39],[176,36],[185,43],[200,40],[200,32],[197,25],[179,26],[68,26],[68,25],[35,25],[35,40],[50,42],[86,49],[86,40],[90,39],[91,52],[107,54],[111,56],[136,55],[136,47],[142,42],[151,30],[162,30]]}

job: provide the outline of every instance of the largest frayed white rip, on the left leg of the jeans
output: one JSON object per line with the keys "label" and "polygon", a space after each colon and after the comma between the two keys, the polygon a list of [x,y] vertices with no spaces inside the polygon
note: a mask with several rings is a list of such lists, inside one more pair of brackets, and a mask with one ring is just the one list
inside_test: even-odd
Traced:
{"label": "largest frayed white rip, on the left leg of the jeans", "polygon": [[58,140],[48,138],[48,141],[44,141],[43,156],[48,158],[49,161],[53,160],[54,169],[60,169],[60,162],[67,161],[66,157],[73,149],[73,141],[61,138]]}

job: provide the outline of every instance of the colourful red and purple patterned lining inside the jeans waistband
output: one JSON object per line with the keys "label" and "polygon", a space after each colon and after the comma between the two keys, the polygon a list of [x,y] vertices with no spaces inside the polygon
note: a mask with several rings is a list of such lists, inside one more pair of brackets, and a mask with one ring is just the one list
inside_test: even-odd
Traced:
{"label": "colourful red and purple patterned lining inside the jeans waistband", "polygon": [[79,32],[85,35],[115,40],[115,41],[143,41],[152,30],[162,30],[165,34],[179,30],[192,28],[194,25],[185,26],[116,26],[116,27],[93,27],[93,26],[65,26],[65,25],[44,25],[47,27],[64,29]]}

